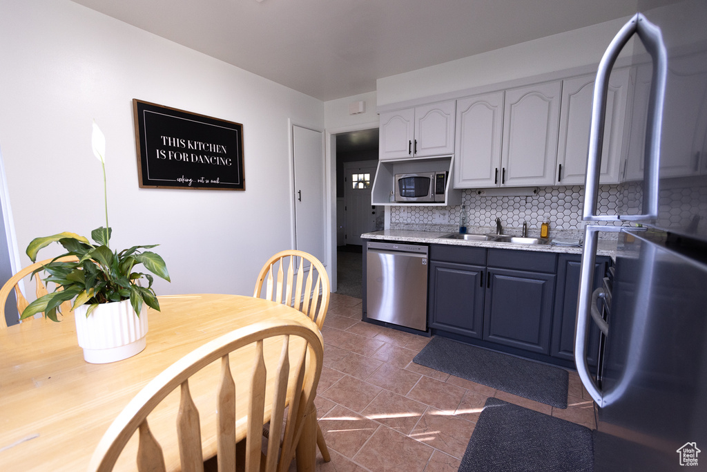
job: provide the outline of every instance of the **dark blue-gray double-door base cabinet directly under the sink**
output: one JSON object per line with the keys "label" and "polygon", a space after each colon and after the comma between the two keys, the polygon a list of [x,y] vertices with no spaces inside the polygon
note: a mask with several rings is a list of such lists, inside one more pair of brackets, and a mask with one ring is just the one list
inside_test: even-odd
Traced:
{"label": "dark blue-gray double-door base cabinet directly under the sink", "polygon": [[556,254],[430,246],[430,328],[549,354]]}

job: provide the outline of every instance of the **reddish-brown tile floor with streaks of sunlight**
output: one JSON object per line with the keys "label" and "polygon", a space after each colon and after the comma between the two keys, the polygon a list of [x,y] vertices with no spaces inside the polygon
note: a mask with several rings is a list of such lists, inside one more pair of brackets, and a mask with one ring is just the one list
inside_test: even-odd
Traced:
{"label": "reddish-brown tile floor with streaks of sunlight", "polygon": [[486,398],[595,427],[592,401],[570,372],[561,410],[412,362],[429,338],[361,321],[361,299],[332,294],[322,329],[318,416],[332,461],[318,471],[457,471]]}

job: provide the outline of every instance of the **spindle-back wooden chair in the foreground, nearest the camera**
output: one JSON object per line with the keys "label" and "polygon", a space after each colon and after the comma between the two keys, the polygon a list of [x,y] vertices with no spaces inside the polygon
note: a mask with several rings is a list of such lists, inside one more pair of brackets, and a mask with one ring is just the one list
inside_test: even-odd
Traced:
{"label": "spindle-back wooden chair in the foreground, nearest the camera", "polygon": [[[269,338],[281,336],[281,351],[275,357],[264,356],[263,343]],[[298,342],[300,338],[304,342]],[[302,348],[295,348],[295,343]],[[279,345],[276,345],[279,346]],[[304,348],[306,346],[306,349]],[[255,347],[255,349],[253,349]],[[247,418],[241,418],[239,427],[246,422],[245,448],[238,448],[236,418],[236,396],[246,391],[240,384],[235,387],[229,354],[242,348],[255,352],[250,374]],[[276,347],[279,349],[279,347]],[[296,352],[293,355],[293,352]],[[287,471],[297,447],[305,422],[316,418],[314,397],[322,373],[324,345],[322,335],[296,321],[264,321],[231,331],[216,340],[206,343],[178,360],[148,383],[118,415],[100,440],[90,459],[88,471],[111,471],[119,454],[139,431],[137,470],[164,471],[162,448],[148,427],[148,414],[172,391],[180,387],[179,411],[175,412],[177,442],[182,471],[203,471],[204,457],[201,449],[201,427],[197,410],[189,393],[189,378],[214,361],[221,360],[221,374],[214,379],[216,396],[216,448],[218,471],[233,471],[237,463],[245,462],[245,471]],[[272,359],[277,359],[274,361]],[[293,359],[290,360],[290,357]],[[250,359],[250,358],[249,358]],[[271,359],[269,362],[268,359]],[[266,370],[266,363],[277,364],[276,369]],[[291,366],[291,367],[290,367]],[[235,369],[235,366],[234,366]],[[293,374],[290,373],[292,369]],[[235,371],[234,371],[235,372]],[[218,382],[216,381],[218,380]],[[270,401],[266,404],[266,385],[272,386]],[[274,386],[273,386],[274,385]],[[266,413],[270,412],[270,437],[282,438],[281,442],[269,440],[267,454],[262,454],[262,428]],[[153,417],[151,417],[153,418]],[[310,428],[313,425],[310,424]],[[206,440],[206,438],[205,438]],[[307,439],[303,439],[306,441]],[[314,438],[311,438],[314,442]],[[313,449],[314,444],[309,443]],[[243,444],[243,443],[240,443]],[[239,445],[240,445],[239,444]],[[245,451],[243,450],[245,449]],[[243,454],[240,452],[243,451]],[[306,456],[302,451],[302,456]],[[314,460],[310,453],[310,459]],[[241,457],[245,455],[245,457]],[[303,459],[305,460],[305,459]],[[176,466],[176,464],[173,464]]]}

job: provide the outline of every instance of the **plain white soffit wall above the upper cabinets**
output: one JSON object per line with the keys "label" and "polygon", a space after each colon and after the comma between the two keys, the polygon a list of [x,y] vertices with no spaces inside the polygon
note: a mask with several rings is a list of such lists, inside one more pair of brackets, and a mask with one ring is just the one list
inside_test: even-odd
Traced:
{"label": "plain white soffit wall above the upper cabinets", "polygon": [[[629,17],[378,79],[378,105],[597,64]],[[624,48],[622,56],[631,52]]]}

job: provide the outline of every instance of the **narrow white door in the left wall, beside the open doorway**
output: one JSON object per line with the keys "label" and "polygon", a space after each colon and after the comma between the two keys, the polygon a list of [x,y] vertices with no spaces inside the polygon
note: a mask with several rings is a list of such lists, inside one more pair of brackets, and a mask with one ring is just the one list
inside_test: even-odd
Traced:
{"label": "narrow white door in the left wall, beside the open doorway", "polygon": [[324,134],[293,125],[295,247],[327,265]]}

